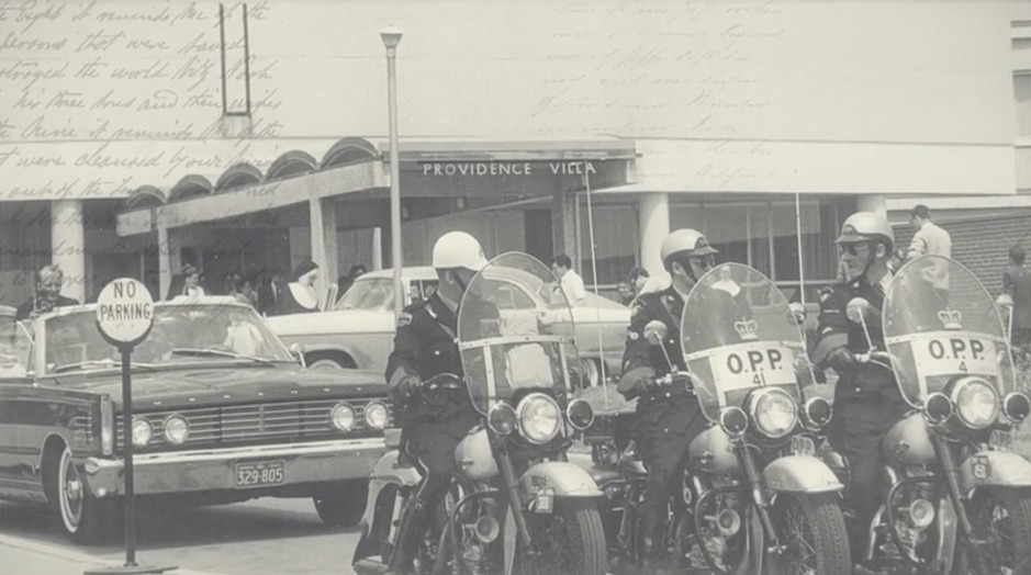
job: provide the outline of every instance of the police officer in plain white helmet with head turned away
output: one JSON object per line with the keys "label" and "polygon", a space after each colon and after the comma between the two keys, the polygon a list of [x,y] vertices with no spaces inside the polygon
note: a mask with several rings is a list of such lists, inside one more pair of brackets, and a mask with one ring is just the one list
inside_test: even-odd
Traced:
{"label": "police officer in plain white helmet with head turned away", "polygon": [[[435,375],[462,375],[457,342],[458,305],[473,275],[486,266],[486,259],[475,238],[451,232],[434,245],[433,266],[439,278],[437,291],[405,307],[397,318],[394,350],[386,362],[386,381],[396,404],[408,403],[413,392]],[[405,408],[402,448],[416,458],[423,481],[402,515],[390,573],[405,573],[411,567],[434,510],[450,485],[455,448],[479,422],[466,390],[448,393],[432,405]]]}

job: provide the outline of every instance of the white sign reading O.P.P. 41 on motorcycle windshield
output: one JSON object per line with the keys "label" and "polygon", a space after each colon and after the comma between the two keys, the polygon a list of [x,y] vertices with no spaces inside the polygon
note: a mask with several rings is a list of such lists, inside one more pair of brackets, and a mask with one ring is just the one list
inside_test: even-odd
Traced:
{"label": "white sign reading O.P.P. 41 on motorcycle windshield", "polygon": [[709,365],[724,392],[795,383],[795,354],[776,341],[727,346],[709,357]]}

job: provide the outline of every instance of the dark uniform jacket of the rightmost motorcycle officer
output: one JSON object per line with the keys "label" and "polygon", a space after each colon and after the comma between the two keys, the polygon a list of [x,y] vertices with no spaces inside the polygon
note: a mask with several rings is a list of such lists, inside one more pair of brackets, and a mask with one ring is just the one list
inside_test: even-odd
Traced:
{"label": "dark uniform jacket of the rightmost motorcycle officer", "polygon": [[[871,285],[865,280],[839,283],[820,293],[819,325],[817,326],[816,349],[813,353],[813,360],[820,369],[829,367],[826,362],[828,354],[841,346],[845,346],[853,353],[865,353],[871,350],[863,326],[849,319],[848,306],[853,297],[863,297],[870,302],[872,309],[866,317],[870,340],[875,349],[885,351],[881,317],[884,304],[882,286]],[[867,401],[897,395],[898,388],[890,369],[874,363],[856,363],[852,369],[838,374],[834,402]]]}

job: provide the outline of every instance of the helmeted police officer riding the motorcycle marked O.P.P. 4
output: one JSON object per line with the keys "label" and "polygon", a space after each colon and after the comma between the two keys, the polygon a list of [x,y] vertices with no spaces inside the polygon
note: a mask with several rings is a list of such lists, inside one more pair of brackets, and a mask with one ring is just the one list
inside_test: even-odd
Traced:
{"label": "helmeted police officer riding the motorcycle marked O.P.P. 4", "polygon": [[859,561],[868,544],[870,522],[881,501],[881,438],[905,415],[906,403],[889,367],[861,361],[870,350],[861,324],[848,316],[853,297],[871,303],[866,318],[870,339],[884,350],[879,311],[892,273],[888,262],[895,249],[895,235],[887,219],[873,212],[858,212],[841,226],[837,240],[843,281],[820,293],[820,316],[814,361],[820,369],[838,373],[834,390],[834,418],[831,444],[848,461],[852,472],[847,498],[854,515],[850,522],[850,544],[856,573],[871,573]]}

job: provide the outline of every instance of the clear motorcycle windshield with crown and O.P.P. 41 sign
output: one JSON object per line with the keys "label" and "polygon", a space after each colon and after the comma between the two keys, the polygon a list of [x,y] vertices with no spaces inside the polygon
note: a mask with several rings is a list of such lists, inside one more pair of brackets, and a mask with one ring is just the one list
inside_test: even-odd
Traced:
{"label": "clear motorcycle windshield with crown and O.P.P. 41 sign", "polygon": [[781,290],[740,263],[710,270],[691,290],[681,345],[705,416],[741,407],[759,387],[777,386],[796,402],[813,383],[802,329]]}

